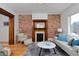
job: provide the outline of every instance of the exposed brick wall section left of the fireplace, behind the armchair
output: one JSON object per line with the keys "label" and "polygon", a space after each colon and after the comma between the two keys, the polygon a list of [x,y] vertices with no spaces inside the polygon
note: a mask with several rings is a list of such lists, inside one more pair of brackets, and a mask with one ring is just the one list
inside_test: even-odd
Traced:
{"label": "exposed brick wall section left of the fireplace, behind the armchair", "polygon": [[32,37],[32,17],[31,15],[19,16],[19,32],[25,33],[28,37]]}

